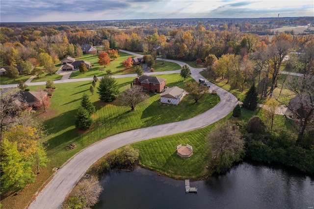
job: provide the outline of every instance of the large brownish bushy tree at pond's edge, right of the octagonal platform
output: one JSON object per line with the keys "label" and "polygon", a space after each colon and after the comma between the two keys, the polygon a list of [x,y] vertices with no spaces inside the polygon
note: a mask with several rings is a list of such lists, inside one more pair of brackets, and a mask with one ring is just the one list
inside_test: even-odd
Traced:
{"label": "large brownish bushy tree at pond's edge, right of the octagonal platform", "polygon": [[226,172],[234,162],[244,157],[244,140],[237,126],[227,121],[210,131],[211,167],[217,173]]}

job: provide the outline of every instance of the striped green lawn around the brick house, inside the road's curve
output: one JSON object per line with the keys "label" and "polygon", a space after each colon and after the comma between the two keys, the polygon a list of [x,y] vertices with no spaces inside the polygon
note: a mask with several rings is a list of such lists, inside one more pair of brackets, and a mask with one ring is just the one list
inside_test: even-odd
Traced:
{"label": "striped green lawn around the brick house, inside the road's curve", "polygon": [[[187,80],[179,74],[160,75],[167,79],[167,86],[183,87]],[[118,86],[120,90],[128,88],[133,78],[119,78]],[[48,112],[40,113],[40,118],[49,135],[43,139],[47,146],[47,155],[50,162],[47,168],[40,171],[35,183],[30,184],[19,195],[10,195],[1,201],[4,206],[11,208],[25,208],[33,194],[52,175],[53,167],[60,167],[66,160],[78,153],[90,144],[107,136],[132,129],[154,126],[174,121],[184,120],[198,115],[219,102],[219,97],[207,95],[198,104],[186,96],[179,105],[160,104],[159,94],[150,94],[149,100],[139,104],[136,111],[130,111],[130,107],[125,107],[118,100],[112,103],[101,102],[98,94],[93,96],[89,92],[91,81],[55,84],[56,90],[53,92],[52,104]],[[44,85],[41,86],[44,88]],[[36,86],[30,86],[31,90],[36,90]],[[78,131],[75,129],[75,114],[83,92],[90,95],[90,100],[96,106],[96,113],[93,115],[94,126],[88,131]],[[66,151],[65,147],[70,143],[75,143],[77,148]]]}

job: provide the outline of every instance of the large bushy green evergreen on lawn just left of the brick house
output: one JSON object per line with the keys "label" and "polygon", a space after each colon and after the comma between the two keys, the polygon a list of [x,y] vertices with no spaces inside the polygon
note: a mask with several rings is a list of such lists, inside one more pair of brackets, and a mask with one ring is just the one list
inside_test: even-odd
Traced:
{"label": "large bushy green evergreen on lawn just left of the brick house", "polygon": [[100,79],[97,89],[99,99],[105,102],[111,102],[115,100],[119,94],[117,81],[112,77],[103,77]]}

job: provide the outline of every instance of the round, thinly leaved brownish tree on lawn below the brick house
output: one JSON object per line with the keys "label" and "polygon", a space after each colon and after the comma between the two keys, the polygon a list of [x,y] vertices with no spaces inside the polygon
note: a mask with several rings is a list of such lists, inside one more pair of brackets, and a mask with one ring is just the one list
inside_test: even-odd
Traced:
{"label": "round, thinly leaved brownish tree on lawn below the brick house", "polygon": [[123,91],[120,95],[122,104],[131,107],[133,111],[137,104],[144,102],[149,96],[142,91],[140,86],[133,86]]}

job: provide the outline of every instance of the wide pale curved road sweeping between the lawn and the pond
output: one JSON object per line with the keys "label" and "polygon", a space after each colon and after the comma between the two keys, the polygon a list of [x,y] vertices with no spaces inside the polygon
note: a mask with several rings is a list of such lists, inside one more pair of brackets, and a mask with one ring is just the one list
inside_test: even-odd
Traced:
{"label": "wide pale curved road sweeping between the lawn and the pond", "polygon": [[[180,61],[175,62],[181,66],[185,64]],[[195,69],[191,67],[190,69],[192,73],[191,76],[194,79],[198,80],[198,78],[203,78],[198,73],[202,69]],[[164,73],[165,72],[162,72],[162,74]],[[71,191],[71,189],[78,182],[78,180],[85,174],[86,170],[96,160],[103,157],[105,154],[109,153],[112,150],[137,141],[199,129],[225,117],[229,112],[233,110],[237,103],[235,96],[212,83],[210,83],[210,88],[212,90],[216,90],[217,94],[220,96],[220,102],[213,108],[198,116],[184,121],[122,132],[107,137],[85,148],[84,150],[70,158],[65,164],[62,165],[61,168],[56,171],[56,173],[53,175],[52,180],[39,193],[35,201],[30,204],[29,208],[59,208],[66,195]]]}

